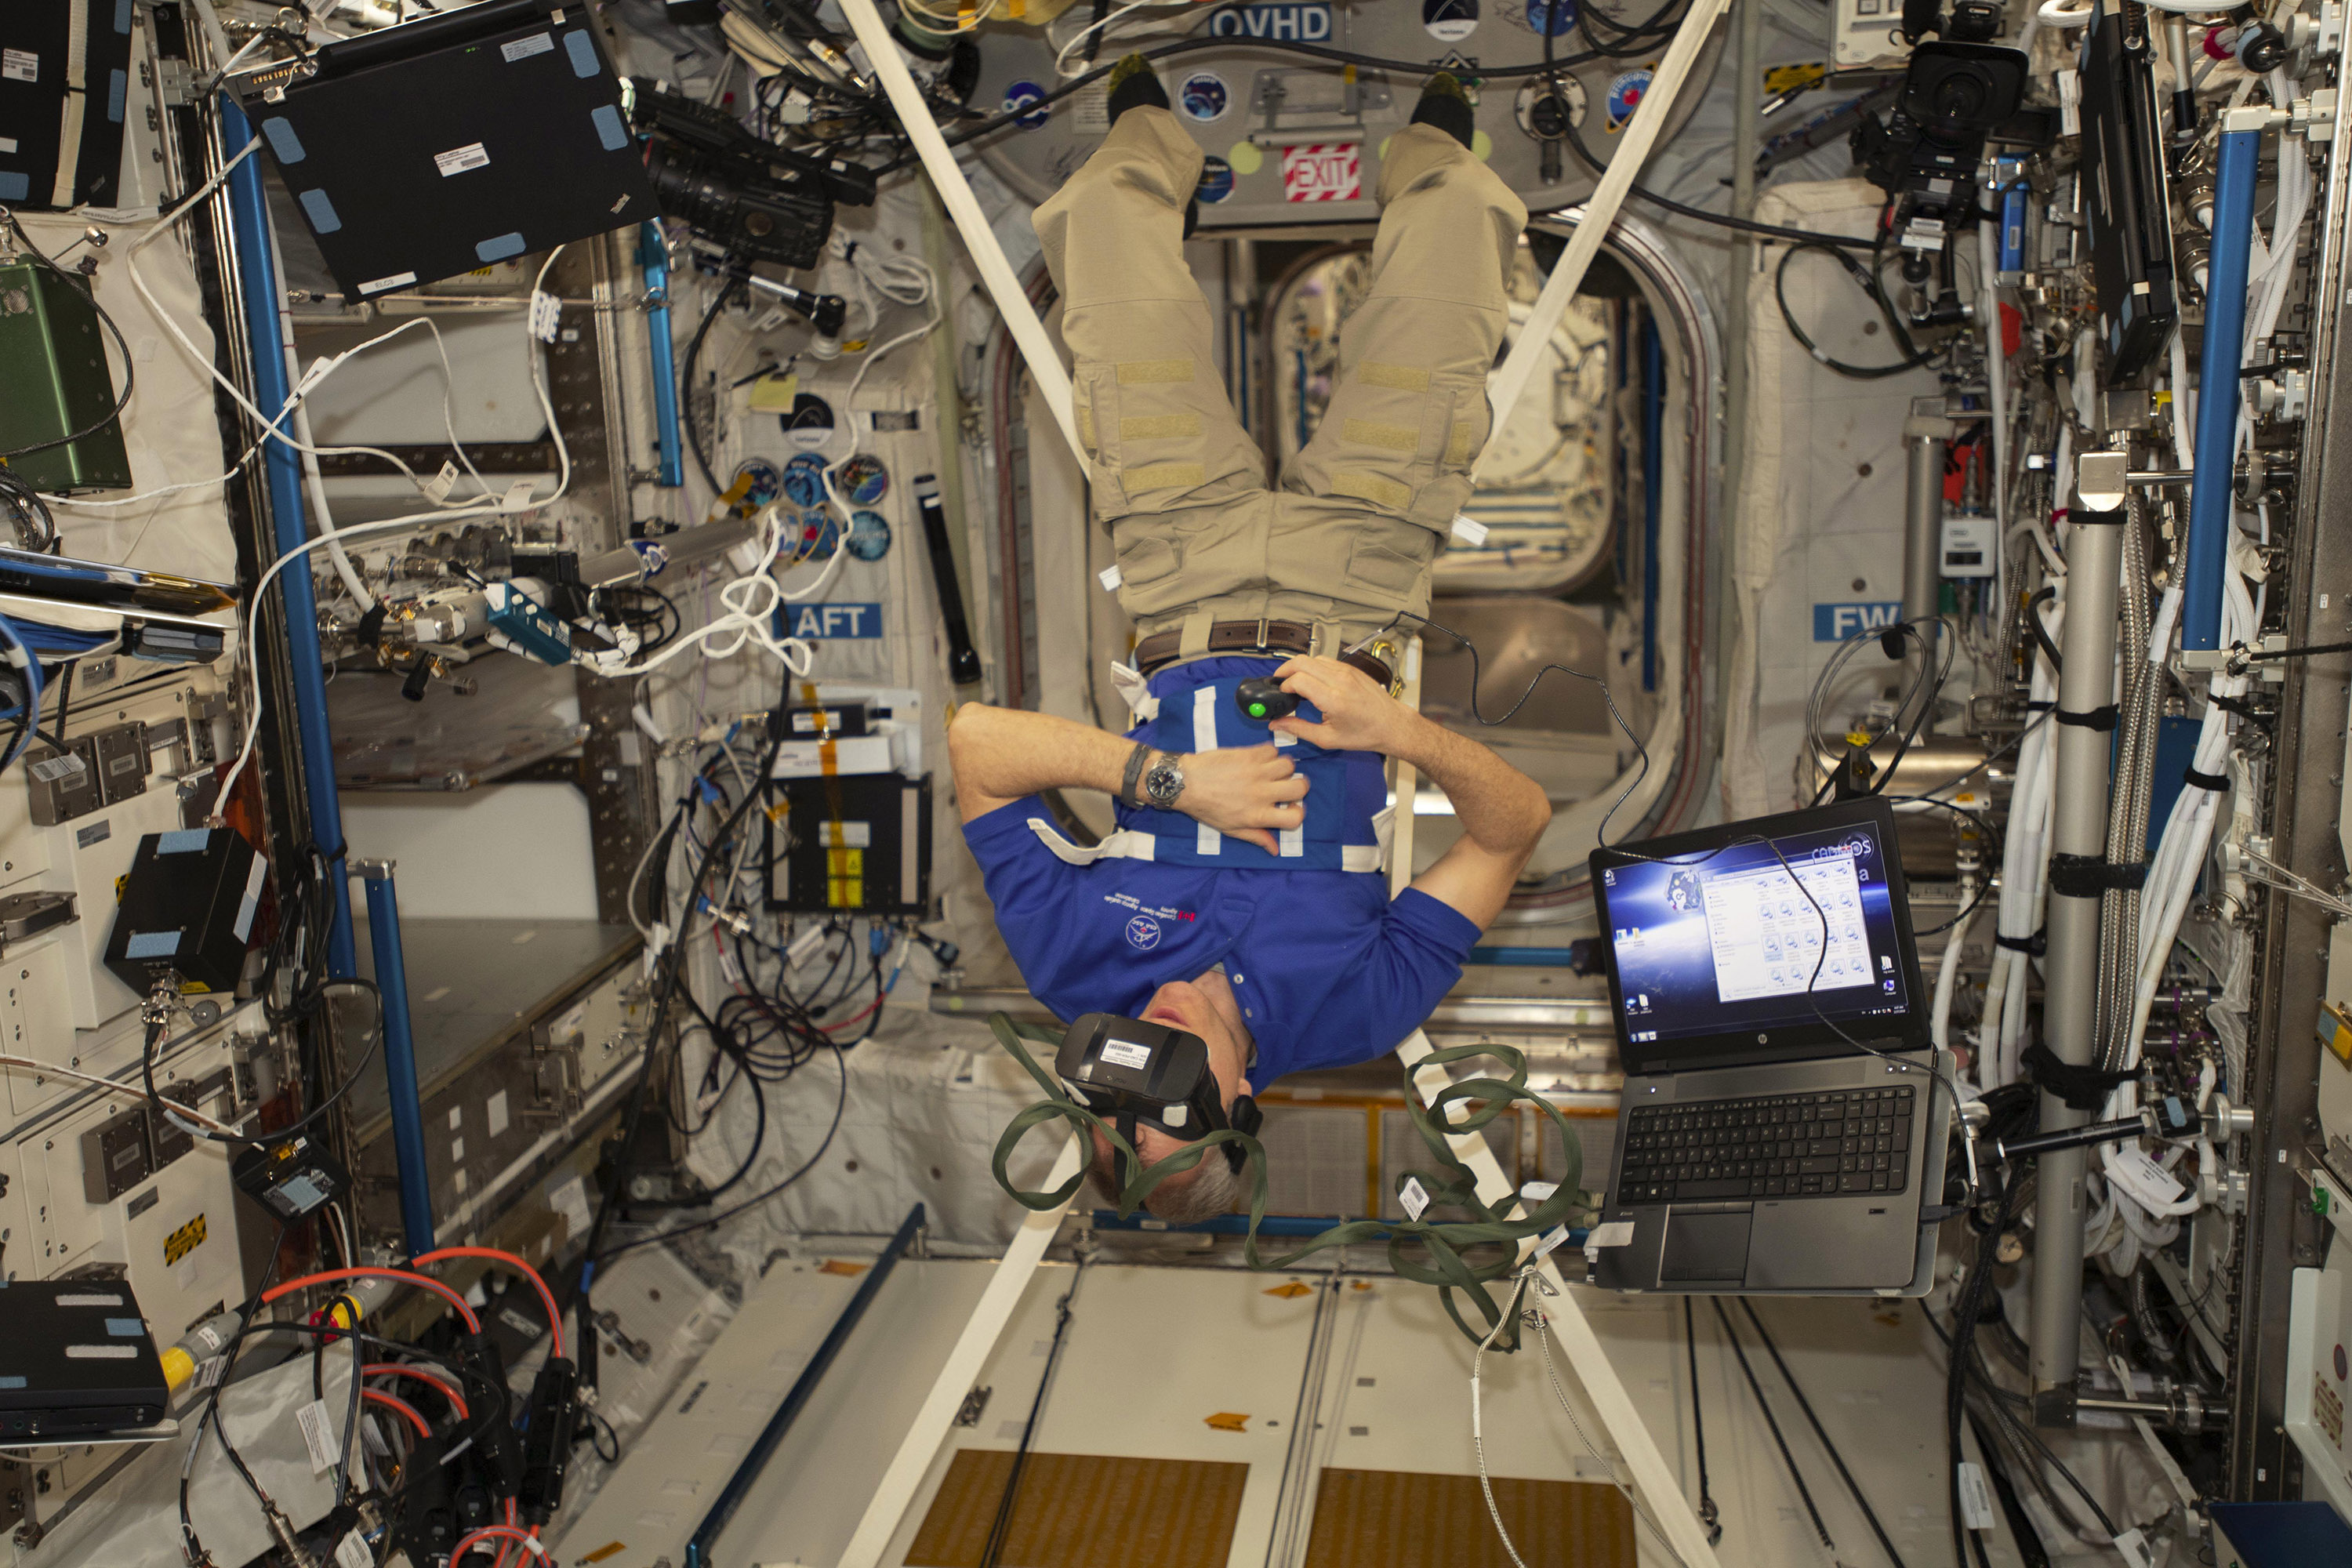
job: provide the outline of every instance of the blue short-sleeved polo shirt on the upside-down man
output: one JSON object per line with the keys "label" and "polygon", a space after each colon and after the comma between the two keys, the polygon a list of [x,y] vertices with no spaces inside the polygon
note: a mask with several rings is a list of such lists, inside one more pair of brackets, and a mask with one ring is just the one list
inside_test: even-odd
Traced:
{"label": "blue short-sleeved polo shirt on the upside-down man", "polygon": [[[1167,712],[1235,665],[1249,675],[1275,668],[1195,661],[1162,670],[1152,693]],[[1327,757],[1350,759],[1345,795],[1350,811],[1362,811],[1362,764],[1352,759],[1369,755]],[[1122,811],[1122,825],[1129,820]],[[1294,870],[1254,844],[1230,844],[1223,865],[1073,863],[1082,851],[1037,797],[974,818],[964,842],[1033,997],[1058,1018],[1134,1018],[1164,983],[1223,964],[1258,1048],[1249,1074],[1258,1091],[1287,1072],[1348,1067],[1397,1048],[1461,978],[1479,938],[1465,914],[1428,893],[1406,889],[1390,900],[1378,872]]]}

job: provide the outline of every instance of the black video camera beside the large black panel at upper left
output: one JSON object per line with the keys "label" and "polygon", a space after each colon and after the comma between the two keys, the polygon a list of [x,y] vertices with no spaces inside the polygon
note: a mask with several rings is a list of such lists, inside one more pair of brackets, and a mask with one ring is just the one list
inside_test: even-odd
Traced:
{"label": "black video camera beside the large black panel at upper left", "polygon": [[630,122],[652,139],[647,174],[661,212],[739,261],[809,268],[833,235],[833,205],[870,207],[873,169],[760,141],[731,115],[628,82]]}

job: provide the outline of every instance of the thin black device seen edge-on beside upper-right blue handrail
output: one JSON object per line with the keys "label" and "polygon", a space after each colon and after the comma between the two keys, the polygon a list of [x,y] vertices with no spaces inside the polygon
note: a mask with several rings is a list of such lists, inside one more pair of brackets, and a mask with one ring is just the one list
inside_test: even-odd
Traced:
{"label": "thin black device seen edge-on beside upper-right blue handrail", "polygon": [[2173,216],[2164,190],[2147,12],[2093,0],[2082,35],[2082,186],[2107,374],[2136,383],[2173,336]]}

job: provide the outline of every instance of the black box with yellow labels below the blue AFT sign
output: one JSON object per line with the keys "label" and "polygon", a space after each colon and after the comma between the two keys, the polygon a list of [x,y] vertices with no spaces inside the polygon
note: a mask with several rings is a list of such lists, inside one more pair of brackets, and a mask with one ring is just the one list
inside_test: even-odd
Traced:
{"label": "black box with yellow labels below the blue AFT sign", "polygon": [[767,818],[767,907],[795,914],[927,914],[931,778],[776,778]]}

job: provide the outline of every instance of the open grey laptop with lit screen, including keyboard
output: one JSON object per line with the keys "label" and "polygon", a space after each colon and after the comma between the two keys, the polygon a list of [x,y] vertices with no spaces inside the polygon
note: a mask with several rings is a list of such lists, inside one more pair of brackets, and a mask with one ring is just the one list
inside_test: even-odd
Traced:
{"label": "open grey laptop with lit screen, including keyboard", "polygon": [[1950,1095],[1893,851],[1863,797],[1592,853],[1625,1065],[1595,1284],[1926,1293]]}

